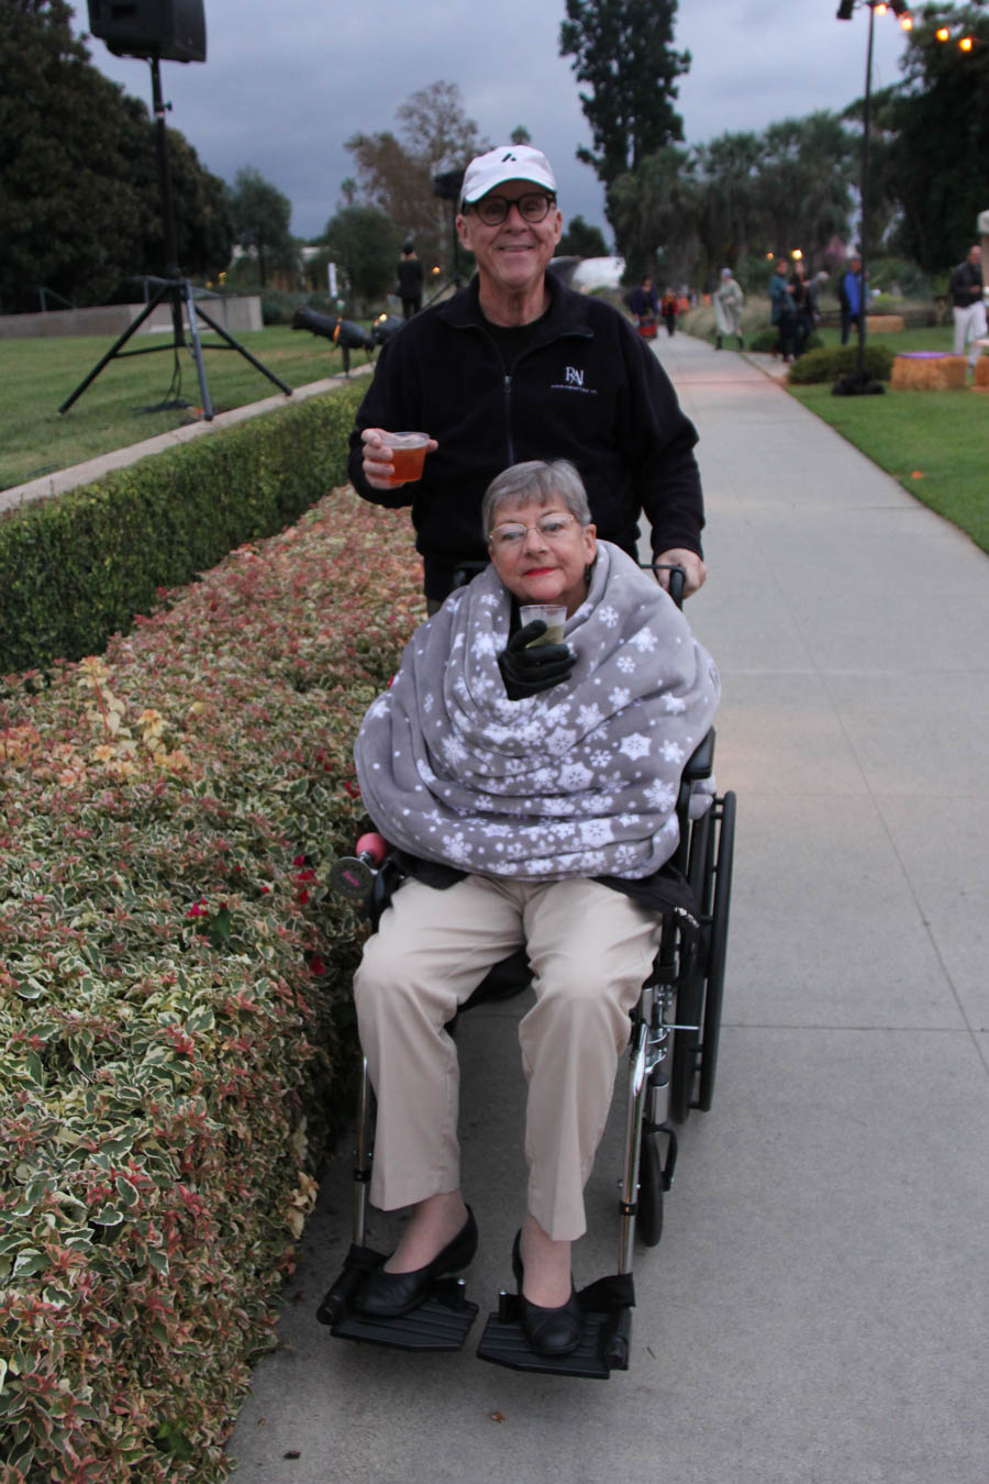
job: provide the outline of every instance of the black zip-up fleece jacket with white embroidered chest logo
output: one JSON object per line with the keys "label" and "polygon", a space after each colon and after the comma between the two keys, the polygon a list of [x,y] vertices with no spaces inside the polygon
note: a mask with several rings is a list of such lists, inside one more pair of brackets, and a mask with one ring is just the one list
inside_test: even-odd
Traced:
{"label": "black zip-up fleece jacket with white embroidered chest logo", "polygon": [[[546,276],[550,307],[506,370],[477,300],[477,279],[417,315],[381,349],[350,436],[348,472],[365,500],[412,506],[426,594],[445,598],[463,561],[486,559],[480,502],[525,459],[569,459],[598,536],[630,555],[645,510],[652,551],[703,555],[697,432],[648,346],[618,310]],[[372,490],[360,432],[417,429],[439,444],[418,484]]]}

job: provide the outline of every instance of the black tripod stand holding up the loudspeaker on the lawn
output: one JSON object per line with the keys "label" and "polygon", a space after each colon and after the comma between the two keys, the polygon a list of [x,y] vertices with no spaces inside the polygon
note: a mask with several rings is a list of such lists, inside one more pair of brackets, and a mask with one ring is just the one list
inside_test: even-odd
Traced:
{"label": "black tripod stand holding up the loudspeaker on the lawn", "polygon": [[[156,123],[156,137],[157,137],[159,188],[160,188],[160,193],[162,193],[162,217],[163,217],[163,221],[165,221],[165,248],[166,248],[166,258],[168,258],[168,264],[166,264],[166,269],[165,269],[165,278],[163,279],[151,279],[153,283],[159,285],[157,291],[151,295],[150,301],[144,306],[142,312],[138,315],[138,318],[133,321],[133,324],[128,325],[128,328],[120,335],[120,338],[114,341],[114,344],[110,347],[110,350],[102,358],[102,361],[99,361],[92,368],[92,371],[89,372],[89,375],[83,381],[79,383],[79,386],[76,387],[76,390],[73,392],[73,395],[68,396],[62,402],[62,405],[59,407],[59,413],[67,413],[70,410],[70,407],[73,405],[73,402],[79,396],[83,395],[83,392],[86,390],[86,387],[90,386],[96,380],[96,377],[99,375],[99,372],[102,371],[102,368],[105,365],[108,365],[114,358],[117,358],[117,356],[147,356],[147,355],[153,355],[156,350],[173,350],[173,352],[178,352],[178,350],[187,349],[185,325],[182,324],[182,310],[185,310],[185,315],[188,318],[188,338],[191,341],[190,349],[193,352],[193,359],[196,362],[196,374],[199,377],[199,390],[200,390],[200,396],[203,399],[203,417],[206,418],[206,421],[212,421],[214,405],[212,405],[212,401],[211,401],[211,396],[209,396],[209,386],[206,384],[206,367],[203,365],[203,347],[202,347],[202,343],[200,343],[200,338],[199,338],[197,316],[199,316],[199,319],[203,321],[203,324],[206,324],[211,329],[214,329],[219,335],[219,338],[222,340],[221,346],[208,346],[208,349],[212,349],[212,350],[236,350],[239,355],[242,355],[245,358],[245,361],[249,361],[251,365],[255,367],[255,370],[261,371],[262,375],[267,375],[267,378],[270,381],[274,381],[274,384],[282,392],[285,392],[286,396],[292,395],[292,387],[288,386],[285,381],[282,381],[282,378],[277,377],[274,374],[274,371],[268,371],[268,368],[265,365],[262,365],[257,359],[257,356],[252,356],[251,352],[246,350],[237,340],[234,340],[233,335],[230,335],[222,328],[222,325],[218,325],[215,319],[211,319],[211,316],[206,313],[206,310],[202,307],[202,304],[199,304],[196,301],[196,298],[193,297],[193,285],[181,273],[181,270],[178,267],[178,261],[176,261],[178,251],[176,251],[176,245],[175,245],[175,214],[172,211],[172,181],[171,181],[169,165],[168,165],[168,138],[166,138],[166,134],[165,134],[165,104],[162,101],[162,77],[160,77],[160,71],[159,71],[159,58],[157,56],[150,56],[148,61],[150,61],[150,65],[151,65],[151,96],[153,96],[153,101],[154,101],[154,123]],[[145,319],[148,319],[154,313],[154,310],[159,307],[159,304],[169,304],[171,310],[172,310],[172,338],[171,338],[171,341],[168,344],[142,346],[138,350],[125,350],[123,347],[126,346],[126,343],[130,340],[130,337],[133,334],[136,334],[136,331],[141,328],[141,325],[145,322]]]}

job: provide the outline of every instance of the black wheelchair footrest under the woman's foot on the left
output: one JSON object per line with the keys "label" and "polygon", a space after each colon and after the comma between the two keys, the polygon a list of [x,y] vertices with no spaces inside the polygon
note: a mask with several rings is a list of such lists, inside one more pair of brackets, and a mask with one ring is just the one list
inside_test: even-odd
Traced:
{"label": "black wheelchair footrest under the woman's foot on the left", "polygon": [[375,1318],[351,1306],[360,1284],[383,1261],[383,1252],[351,1247],[340,1278],[316,1310],[319,1322],[328,1324],[338,1340],[399,1350],[460,1350],[477,1318],[477,1304],[466,1297],[463,1278],[437,1278],[417,1309],[393,1318]]}

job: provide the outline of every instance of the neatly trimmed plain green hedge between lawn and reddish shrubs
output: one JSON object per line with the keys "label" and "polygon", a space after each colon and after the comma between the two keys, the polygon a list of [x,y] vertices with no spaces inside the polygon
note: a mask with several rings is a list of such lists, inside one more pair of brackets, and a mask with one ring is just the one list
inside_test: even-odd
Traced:
{"label": "neatly trimmed plain green hedge between lawn and reddish shrubs", "polygon": [[102,650],[347,478],[365,387],[277,408],[0,516],[0,675]]}

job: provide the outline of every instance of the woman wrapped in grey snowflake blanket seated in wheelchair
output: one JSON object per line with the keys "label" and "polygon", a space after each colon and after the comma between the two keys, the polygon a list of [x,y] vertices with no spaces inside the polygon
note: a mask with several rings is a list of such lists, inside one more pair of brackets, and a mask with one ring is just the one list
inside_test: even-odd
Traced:
{"label": "woman wrapped in grey snowflake blanket seated in wheelchair", "polygon": [[[445,1027],[523,947],[535,1005],[519,1028],[528,1192],[512,1257],[526,1343],[566,1355],[583,1190],[676,896],[663,867],[679,776],[719,681],[667,594],[596,542],[572,464],[504,470],[483,521],[491,565],[417,629],[356,745],[365,806],[405,873],[354,979],[378,1101],[371,1199],[412,1208],[356,1307],[406,1313],[474,1255]],[[534,644],[546,625],[522,626],[519,604],[565,607],[563,643]]]}

